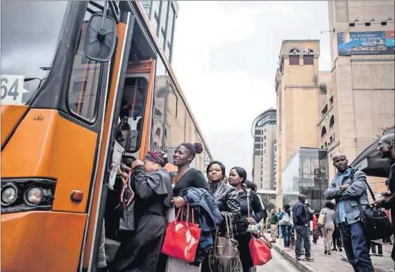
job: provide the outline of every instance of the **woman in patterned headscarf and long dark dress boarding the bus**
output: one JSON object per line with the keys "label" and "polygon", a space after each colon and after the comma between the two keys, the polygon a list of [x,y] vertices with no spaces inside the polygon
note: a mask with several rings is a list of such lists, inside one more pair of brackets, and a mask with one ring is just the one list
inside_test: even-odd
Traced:
{"label": "woman in patterned headscarf and long dark dress boarding the bus", "polygon": [[144,160],[135,160],[131,187],[135,191],[136,230],[125,237],[110,265],[111,272],[156,272],[160,248],[167,226],[171,181],[162,167],[167,164],[163,151],[148,151]]}

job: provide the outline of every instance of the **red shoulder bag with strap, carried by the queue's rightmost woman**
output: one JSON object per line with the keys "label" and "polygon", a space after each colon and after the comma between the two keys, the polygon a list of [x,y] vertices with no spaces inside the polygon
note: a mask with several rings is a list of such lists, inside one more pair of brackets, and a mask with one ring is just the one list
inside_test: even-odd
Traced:
{"label": "red shoulder bag with strap, carried by the queue's rightmost woman", "polygon": [[[249,203],[249,194],[247,194],[247,209],[249,211],[250,217],[250,203]],[[271,244],[270,241],[261,236],[259,238],[255,238],[251,234],[251,240],[249,241],[249,249],[251,254],[251,260],[253,261],[253,266],[264,265],[271,260]]]}

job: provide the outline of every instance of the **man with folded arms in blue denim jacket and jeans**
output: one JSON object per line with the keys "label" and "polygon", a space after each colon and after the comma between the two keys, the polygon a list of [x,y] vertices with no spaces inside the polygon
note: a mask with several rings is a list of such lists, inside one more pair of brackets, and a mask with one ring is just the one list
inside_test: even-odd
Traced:
{"label": "man with folded arms in blue denim jacket and jeans", "polygon": [[348,262],[356,272],[371,272],[373,271],[369,255],[371,241],[364,233],[358,207],[358,201],[362,209],[366,209],[369,205],[366,175],[358,169],[348,167],[348,160],[343,153],[333,155],[333,165],[337,169],[337,174],[324,194],[326,199],[335,198],[337,202],[335,220],[339,222]]}

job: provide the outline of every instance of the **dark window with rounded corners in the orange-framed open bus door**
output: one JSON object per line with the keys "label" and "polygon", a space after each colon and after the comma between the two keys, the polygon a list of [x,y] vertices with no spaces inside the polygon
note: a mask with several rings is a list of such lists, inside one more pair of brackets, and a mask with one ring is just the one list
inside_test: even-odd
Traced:
{"label": "dark window with rounded corners in the orange-framed open bus door", "polygon": [[146,78],[126,78],[118,124],[124,135],[126,152],[134,153],[140,149],[147,90]]}

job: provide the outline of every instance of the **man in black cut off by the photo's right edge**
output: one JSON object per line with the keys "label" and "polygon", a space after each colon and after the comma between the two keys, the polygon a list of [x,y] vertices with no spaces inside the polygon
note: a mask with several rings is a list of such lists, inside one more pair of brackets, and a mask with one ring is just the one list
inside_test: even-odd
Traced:
{"label": "man in black cut off by the photo's right edge", "polygon": [[[385,209],[391,209],[391,219],[392,226],[394,227],[395,232],[395,134],[389,133],[384,135],[378,140],[378,154],[381,158],[388,158],[391,160],[391,169],[389,170],[389,182],[388,189],[389,192],[383,193],[383,198],[376,200],[375,205],[378,207],[384,207]],[[392,245],[392,260],[395,262],[395,245]],[[394,267],[395,269],[395,267]]]}

